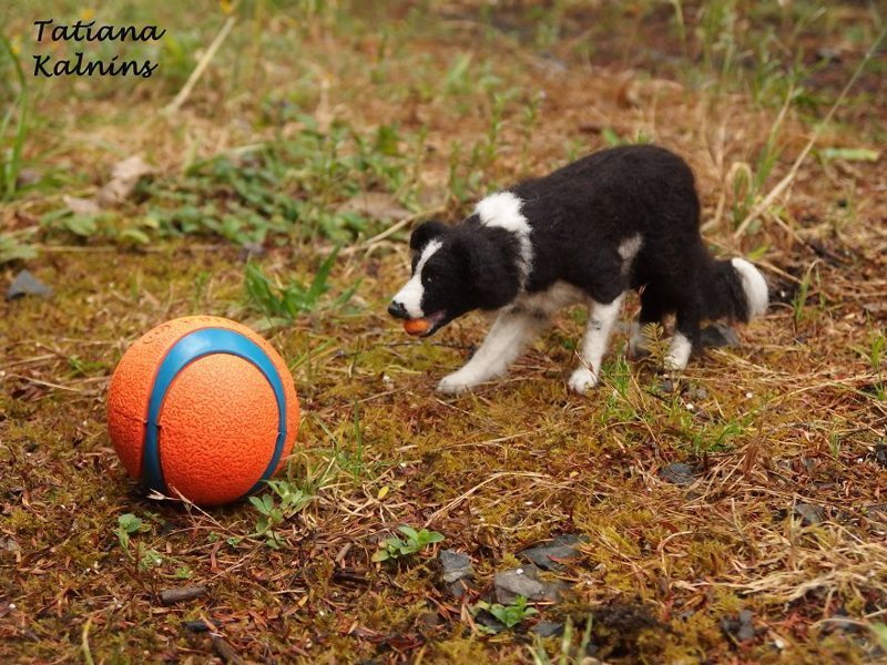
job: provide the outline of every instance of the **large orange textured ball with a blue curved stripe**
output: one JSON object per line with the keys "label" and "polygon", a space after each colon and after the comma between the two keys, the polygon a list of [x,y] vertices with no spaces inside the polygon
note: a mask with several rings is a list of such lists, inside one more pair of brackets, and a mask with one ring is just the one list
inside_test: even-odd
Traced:
{"label": "large orange textured ball with a blue curved stripe", "polygon": [[293,449],[298,422],[283,358],[246,326],[213,316],[141,337],[108,393],[108,429],[129,474],[197,505],[261,490]]}

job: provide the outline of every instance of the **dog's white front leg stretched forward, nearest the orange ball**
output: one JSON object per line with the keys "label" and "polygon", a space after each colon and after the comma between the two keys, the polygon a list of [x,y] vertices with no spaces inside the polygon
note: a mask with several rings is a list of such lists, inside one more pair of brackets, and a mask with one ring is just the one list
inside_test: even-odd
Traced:
{"label": "dog's white front leg stretched forward, nearest the orange ball", "polygon": [[443,377],[437,389],[458,393],[502,376],[543,324],[539,317],[526,311],[512,309],[500,314],[471,360]]}

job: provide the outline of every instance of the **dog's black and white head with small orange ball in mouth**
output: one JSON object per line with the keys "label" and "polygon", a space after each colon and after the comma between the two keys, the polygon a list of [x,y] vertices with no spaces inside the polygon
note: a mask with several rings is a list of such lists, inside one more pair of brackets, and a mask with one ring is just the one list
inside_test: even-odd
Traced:
{"label": "dog's black and white head with small orange ball in mouth", "polygon": [[472,309],[507,305],[519,286],[509,236],[466,233],[440,222],[421,224],[409,241],[412,276],[391,298],[388,314],[407,321],[410,334],[427,337]]}

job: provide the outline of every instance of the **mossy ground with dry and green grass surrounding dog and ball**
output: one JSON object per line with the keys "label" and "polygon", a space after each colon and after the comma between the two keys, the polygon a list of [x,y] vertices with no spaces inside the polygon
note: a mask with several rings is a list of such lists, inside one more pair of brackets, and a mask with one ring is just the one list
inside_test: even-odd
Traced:
{"label": "mossy ground with dry and green grass surrounding dog and ball", "polygon": [[[81,11],[0,9],[6,51],[27,65],[43,49],[34,16]],[[0,59],[0,285],[28,268],[54,289],[0,301],[0,659],[884,657],[883,52],[823,127],[817,160],[794,166],[884,28],[874,4],[256,0],[99,13],[169,29],[126,48],[160,59],[157,78],[22,83]],[[601,386],[579,398],[565,378],[582,314],[565,311],[509,378],[439,398],[435,382],[486,323],[469,315],[415,341],[388,320],[410,225],[639,141],[692,163],[706,238],[764,266],[767,316],[667,386],[662,331],[639,361],[619,335]],[[71,209],[133,154],[155,173],[131,196]],[[128,345],[204,313],[263,329],[303,407],[285,471],[213,511],[144,497],[104,426]],[[694,464],[692,484],[661,478],[673,462]],[[801,504],[825,520],[799,519]],[[560,533],[588,538],[554,574],[562,601],[492,603],[495,573]],[[395,538],[414,555],[374,562]],[[471,556],[476,589],[461,600],[441,584],[439,548]],[[160,605],[162,590],[192,584],[207,595]],[[485,603],[510,631],[472,628]],[[724,627],[743,610],[747,640]],[[540,621],[563,635],[531,633]]]}

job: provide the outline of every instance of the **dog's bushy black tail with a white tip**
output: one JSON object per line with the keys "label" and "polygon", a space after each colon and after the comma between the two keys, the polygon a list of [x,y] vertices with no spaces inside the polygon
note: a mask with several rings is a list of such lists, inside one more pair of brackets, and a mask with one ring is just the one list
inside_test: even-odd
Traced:
{"label": "dog's bushy black tail with a white tip", "polygon": [[744,258],[711,259],[704,279],[706,318],[747,323],[767,309],[767,283]]}

